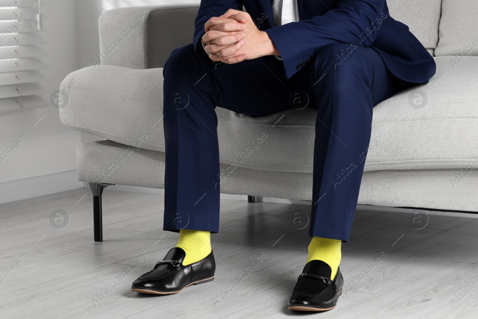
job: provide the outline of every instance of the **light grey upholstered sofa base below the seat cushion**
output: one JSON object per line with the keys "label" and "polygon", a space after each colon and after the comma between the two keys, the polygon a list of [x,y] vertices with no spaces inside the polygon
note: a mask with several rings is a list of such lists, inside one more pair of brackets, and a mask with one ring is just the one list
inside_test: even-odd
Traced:
{"label": "light grey upholstered sofa base below the seat cushion", "polygon": [[[78,180],[164,188],[164,153],[143,148],[131,152],[128,147],[112,141],[78,145]],[[227,166],[221,164],[220,168],[226,170]],[[358,204],[477,211],[478,175],[471,174],[476,170],[472,167],[477,166],[365,172]],[[239,166],[223,179],[220,187],[225,194],[311,200],[312,174]]]}

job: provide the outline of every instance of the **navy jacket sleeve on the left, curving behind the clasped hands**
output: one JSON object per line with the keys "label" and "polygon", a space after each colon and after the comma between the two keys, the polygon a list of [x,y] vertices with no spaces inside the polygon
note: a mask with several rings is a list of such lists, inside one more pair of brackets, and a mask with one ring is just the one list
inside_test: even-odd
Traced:
{"label": "navy jacket sleeve on the left, curving behind the clasped hands", "polygon": [[204,33],[204,24],[207,20],[212,17],[218,17],[223,15],[229,9],[236,9],[242,11],[242,1],[240,0],[202,0],[199,5],[199,11],[195,19],[195,31],[193,44],[196,49],[196,55],[199,57],[201,64],[208,68],[213,69],[222,64],[222,62],[211,61],[204,51],[203,45],[201,44],[201,38]]}

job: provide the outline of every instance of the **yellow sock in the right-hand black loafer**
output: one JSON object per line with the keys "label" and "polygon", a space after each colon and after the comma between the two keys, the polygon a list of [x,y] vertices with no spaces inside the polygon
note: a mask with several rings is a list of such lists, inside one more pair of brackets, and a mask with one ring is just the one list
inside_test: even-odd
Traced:
{"label": "yellow sock in the right-hand black loafer", "polygon": [[327,263],[330,268],[332,268],[330,280],[334,280],[337,275],[340,259],[342,258],[342,253],[340,251],[341,246],[341,240],[314,236],[309,244],[307,263],[311,260],[321,260]]}

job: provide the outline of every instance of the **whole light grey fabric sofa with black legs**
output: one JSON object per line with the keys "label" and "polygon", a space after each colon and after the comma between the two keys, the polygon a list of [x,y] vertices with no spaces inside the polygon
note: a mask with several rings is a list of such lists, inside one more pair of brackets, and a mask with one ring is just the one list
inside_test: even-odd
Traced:
{"label": "whole light grey fabric sofa with black legs", "polygon": [[[435,57],[429,83],[377,105],[359,204],[478,211],[478,3],[389,0]],[[99,24],[101,64],[69,74],[60,119],[106,141],[77,146],[78,180],[95,198],[101,241],[101,191],[111,184],[164,188],[163,69],[191,43],[197,5],[106,11]],[[475,44],[475,45],[473,45]],[[221,192],[312,199],[316,110],[249,117],[216,108]],[[265,132],[259,149],[252,142]],[[240,163],[233,171],[231,163]]]}

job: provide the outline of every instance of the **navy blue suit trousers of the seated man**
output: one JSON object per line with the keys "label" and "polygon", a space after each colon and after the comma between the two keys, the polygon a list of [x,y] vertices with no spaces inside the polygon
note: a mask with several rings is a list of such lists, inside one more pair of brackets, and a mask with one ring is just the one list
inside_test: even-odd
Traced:
{"label": "navy blue suit trousers of the seated man", "polygon": [[391,74],[372,48],[350,50],[350,44],[327,45],[289,79],[274,56],[206,69],[193,44],[174,50],[163,69],[163,229],[219,231],[216,106],[263,116],[297,108],[289,100],[300,90],[307,107],[317,109],[309,235],[347,242],[372,109],[411,85]]}

